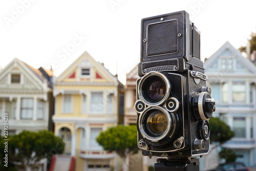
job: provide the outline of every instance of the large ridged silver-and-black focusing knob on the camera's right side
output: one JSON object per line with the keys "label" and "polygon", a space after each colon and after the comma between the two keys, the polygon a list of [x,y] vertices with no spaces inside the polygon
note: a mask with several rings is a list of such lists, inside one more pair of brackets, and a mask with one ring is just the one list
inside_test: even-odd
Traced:
{"label": "large ridged silver-and-black focusing knob on the camera's right side", "polygon": [[197,120],[209,120],[215,112],[215,99],[207,92],[194,93],[192,106]]}

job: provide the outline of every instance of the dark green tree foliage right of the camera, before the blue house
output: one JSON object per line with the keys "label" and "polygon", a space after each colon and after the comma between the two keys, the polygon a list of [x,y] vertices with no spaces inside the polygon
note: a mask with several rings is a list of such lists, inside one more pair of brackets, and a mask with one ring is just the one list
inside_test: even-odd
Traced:
{"label": "dark green tree foliage right of the camera, before the blue house", "polygon": [[219,142],[223,144],[234,136],[234,132],[230,130],[230,127],[220,120],[220,118],[211,117],[209,119],[210,124],[210,143]]}

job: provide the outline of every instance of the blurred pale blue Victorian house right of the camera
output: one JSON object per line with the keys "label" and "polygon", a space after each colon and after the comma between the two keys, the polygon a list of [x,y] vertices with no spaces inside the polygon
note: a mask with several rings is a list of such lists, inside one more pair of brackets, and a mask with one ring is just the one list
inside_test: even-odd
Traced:
{"label": "blurred pale blue Victorian house right of the camera", "polygon": [[[216,100],[214,116],[220,117],[235,134],[221,147],[232,148],[237,161],[256,166],[256,67],[226,42],[205,61],[204,68],[207,86]],[[209,167],[205,161],[204,168]]]}

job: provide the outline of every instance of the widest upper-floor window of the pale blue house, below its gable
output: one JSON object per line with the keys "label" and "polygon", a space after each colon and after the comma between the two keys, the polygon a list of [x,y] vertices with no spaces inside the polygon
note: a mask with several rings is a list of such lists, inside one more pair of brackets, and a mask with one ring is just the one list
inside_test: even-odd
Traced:
{"label": "widest upper-floor window of the pale blue house, below its gable", "polygon": [[233,82],[232,98],[233,98],[233,102],[245,101],[245,82],[243,81]]}

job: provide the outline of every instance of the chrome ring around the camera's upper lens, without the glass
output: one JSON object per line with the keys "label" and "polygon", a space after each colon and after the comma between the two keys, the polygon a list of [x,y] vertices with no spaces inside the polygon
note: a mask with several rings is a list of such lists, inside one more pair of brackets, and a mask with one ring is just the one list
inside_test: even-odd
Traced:
{"label": "chrome ring around the camera's upper lens, without the glass", "polygon": [[[152,77],[152,76],[159,76],[161,77],[164,82],[165,82],[165,86],[166,86],[166,92],[165,92],[165,95],[164,97],[159,101],[159,102],[150,102],[149,100],[146,100],[146,98],[144,98],[143,94],[142,94],[142,85],[143,83],[145,82],[145,80],[147,80],[149,77]],[[169,83],[169,80],[167,79],[167,77],[162,74],[162,73],[159,73],[159,72],[156,72],[156,71],[152,71],[152,72],[149,72],[147,73],[146,75],[144,75],[140,82],[139,82],[139,86],[138,86],[138,95],[139,95],[139,99],[144,102],[146,105],[148,106],[153,106],[153,105],[161,105],[164,101],[167,100],[167,98],[169,97],[169,93],[170,93],[170,83]]]}

